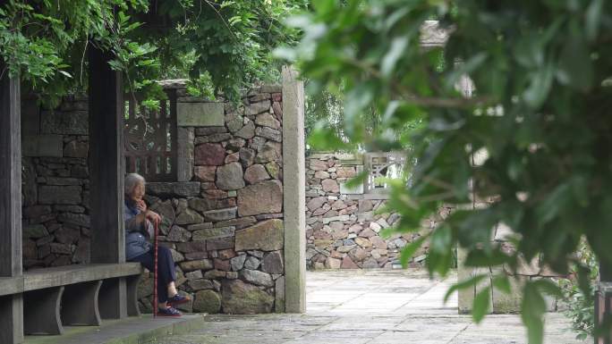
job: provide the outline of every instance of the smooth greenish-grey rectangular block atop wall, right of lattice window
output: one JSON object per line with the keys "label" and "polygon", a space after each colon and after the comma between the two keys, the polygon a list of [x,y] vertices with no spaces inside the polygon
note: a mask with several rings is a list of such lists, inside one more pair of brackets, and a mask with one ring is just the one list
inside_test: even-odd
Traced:
{"label": "smooth greenish-grey rectangular block atop wall, right of lattice window", "polygon": [[176,123],[179,127],[223,126],[223,103],[176,103]]}

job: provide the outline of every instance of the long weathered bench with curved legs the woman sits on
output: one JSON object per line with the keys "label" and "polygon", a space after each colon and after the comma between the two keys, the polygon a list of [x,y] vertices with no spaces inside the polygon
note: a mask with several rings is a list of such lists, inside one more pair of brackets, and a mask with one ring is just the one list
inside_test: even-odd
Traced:
{"label": "long weathered bench with curved legs the woman sits on", "polygon": [[[115,309],[106,300],[116,299],[115,290],[125,290],[127,315],[140,315],[141,272],[139,263],[32,270],[18,277],[0,277],[0,297],[23,295],[24,334],[62,334],[64,325],[99,326],[101,319],[113,317]],[[125,283],[125,289],[116,288],[117,283]]]}

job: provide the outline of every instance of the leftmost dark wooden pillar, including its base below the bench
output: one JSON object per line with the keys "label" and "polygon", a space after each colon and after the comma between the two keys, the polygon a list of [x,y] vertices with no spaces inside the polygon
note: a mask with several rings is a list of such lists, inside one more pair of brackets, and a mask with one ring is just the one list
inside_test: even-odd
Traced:
{"label": "leftmost dark wooden pillar, including its base below the bench", "polygon": [[[0,59],[0,277],[21,276],[21,112],[19,78]],[[23,341],[21,294],[0,297],[0,343]]]}

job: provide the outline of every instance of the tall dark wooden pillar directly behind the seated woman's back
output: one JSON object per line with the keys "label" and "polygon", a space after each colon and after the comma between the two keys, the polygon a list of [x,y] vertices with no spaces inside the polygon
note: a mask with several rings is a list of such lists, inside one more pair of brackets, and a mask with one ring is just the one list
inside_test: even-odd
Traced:
{"label": "tall dark wooden pillar directly behind the seated woman's back", "polygon": [[[89,185],[91,263],[124,263],[123,85],[110,52],[89,46]],[[125,280],[103,285],[103,318],[127,316]],[[102,308],[102,305],[100,305]]]}

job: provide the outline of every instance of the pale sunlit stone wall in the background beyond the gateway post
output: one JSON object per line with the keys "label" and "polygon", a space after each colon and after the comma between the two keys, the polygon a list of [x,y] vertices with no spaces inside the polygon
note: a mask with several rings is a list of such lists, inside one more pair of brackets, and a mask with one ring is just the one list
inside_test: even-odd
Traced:
{"label": "pale sunlit stone wall in the background beyond the gateway post", "polygon": [[[385,194],[348,189],[344,183],[363,169],[360,155],[315,153],[306,158],[306,264],[309,269],[399,268],[399,254],[412,240],[435,226],[435,220],[415,233],[382,238],[398,214],[381,213]],[[428,245],[410,266],[419,266]]]}

